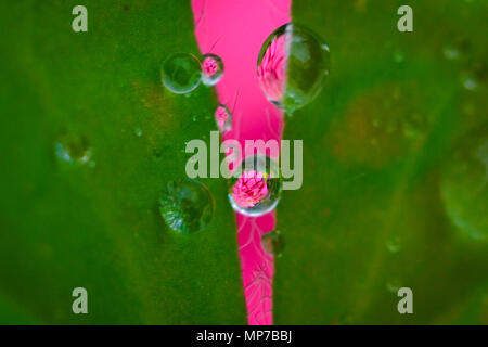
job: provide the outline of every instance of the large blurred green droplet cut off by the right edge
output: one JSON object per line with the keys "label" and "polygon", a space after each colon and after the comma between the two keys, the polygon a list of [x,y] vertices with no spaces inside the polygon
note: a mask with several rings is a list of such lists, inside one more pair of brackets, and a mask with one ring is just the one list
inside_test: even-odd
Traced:
{"label": "large blurred green droplet cut off by the right edge", "polygon": [[466,134],[442,168],[440,192],[452,223],[473,240],[488,240],[488,125]]}

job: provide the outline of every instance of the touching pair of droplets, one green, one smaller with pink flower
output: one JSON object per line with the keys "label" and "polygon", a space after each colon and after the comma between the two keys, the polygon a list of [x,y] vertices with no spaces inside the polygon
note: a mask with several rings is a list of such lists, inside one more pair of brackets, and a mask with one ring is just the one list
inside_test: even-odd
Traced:
{"label": "touching pair of droplets, one green, one smaller with pink flower", "polygon": [[175,53],[160,66],[163,85],[176,94],[188,94],[202,82],[215,86],[223,77],[223,62],[215,54],[201,60],[190,53]]}

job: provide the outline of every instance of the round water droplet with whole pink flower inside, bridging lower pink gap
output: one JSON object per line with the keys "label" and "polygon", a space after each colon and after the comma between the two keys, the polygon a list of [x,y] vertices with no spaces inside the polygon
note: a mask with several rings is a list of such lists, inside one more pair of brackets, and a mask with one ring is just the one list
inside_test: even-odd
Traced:
{"label": "round water droplet with whole pink flower inside, bridging lower pink gap", "polygon": [[240,214],[259,217],[277,207],[281,188],[278,163],[268,156],[253,155],[242,160],[234,170],[229,201]]}

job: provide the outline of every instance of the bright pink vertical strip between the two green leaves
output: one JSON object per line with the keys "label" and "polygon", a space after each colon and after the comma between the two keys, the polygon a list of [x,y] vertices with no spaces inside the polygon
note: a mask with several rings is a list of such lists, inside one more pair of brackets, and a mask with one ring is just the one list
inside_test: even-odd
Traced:
{"label": "bright pink vertical strip between the two green leaves", "polygon": [[[226,139],[280,140],[283,113],[266,100],[256,64],[266,38],[288,23],[291,0],[192,0],[195,34],[202,54],[223,60],[217,83],[219,102],[233,113],[233,129]],[[239,255],[249,324],[272,324],[273,257],[262,248],[261,235],[274,229],[275,216],[236,214]]]}

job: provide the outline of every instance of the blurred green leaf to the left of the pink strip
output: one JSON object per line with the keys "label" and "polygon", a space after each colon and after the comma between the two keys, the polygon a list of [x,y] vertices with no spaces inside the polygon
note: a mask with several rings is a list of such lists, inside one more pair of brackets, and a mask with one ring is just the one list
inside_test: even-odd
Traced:
{"label": "blurred green leaf to the left of the pink strip", "polygon": [[[198,53],[190,1],[85,0],[80,34],[77,4],[0,4],[0,323],[245,323],[226,183],[204,180],[205,232],[176,234],[158,214],[185,141],[216,129],[210,89],[159,81],[168,54]],[[56,158],[64,137],[94,164]],[[72,312],[78,286],[89,314]]]}

